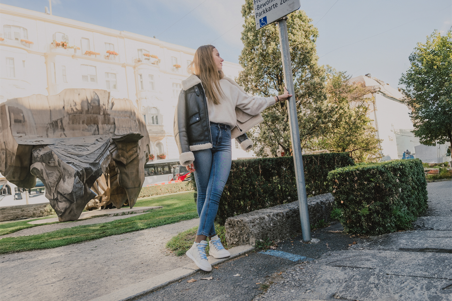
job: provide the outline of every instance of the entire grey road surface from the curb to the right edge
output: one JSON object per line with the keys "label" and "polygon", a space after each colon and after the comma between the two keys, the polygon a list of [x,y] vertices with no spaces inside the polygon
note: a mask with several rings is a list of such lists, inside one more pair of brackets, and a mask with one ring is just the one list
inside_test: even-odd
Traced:
{"label": "entire grey road surface from the curb to the right edge", "polygon": [[413,231],[359,238],[333,222],[312,232],[317,243],[278,244],[307,259],[252,252],[135,300],[452,300],[451,184],[428,184],[429,209]]}

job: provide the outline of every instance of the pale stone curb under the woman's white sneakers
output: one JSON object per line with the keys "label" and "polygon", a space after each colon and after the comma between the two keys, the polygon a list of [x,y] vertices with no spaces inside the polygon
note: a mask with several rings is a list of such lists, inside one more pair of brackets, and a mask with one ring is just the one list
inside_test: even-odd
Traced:
{"label": "pale stone curb under the woman's white sneakers", "polygon": [[[254,250],[254,246],[252,245],[239,245],[228,250],[231,253],[231,256],[227,258],[215,259],[212,256],[209,256],[207,259],[212,265],[221,264],[222,262],[226,262],[252,250]],[[111,292],[108,295],[100,296],[89,301],[133,301],[149,294],[150,292],[166,287],[173,282],[193,275],[200,270],[201,269],[199,269],[194,263],[187,264],[181,268],[168,271],[153,278],[138,282],[127,288]]]}

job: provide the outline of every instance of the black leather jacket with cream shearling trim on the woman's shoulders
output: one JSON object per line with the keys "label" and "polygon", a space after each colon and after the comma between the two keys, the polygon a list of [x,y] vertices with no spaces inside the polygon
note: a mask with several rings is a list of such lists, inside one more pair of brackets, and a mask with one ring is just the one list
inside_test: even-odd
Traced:
{"label": "black leather jacket with cream shearling trim on the woman's shoulders", "polygon": [[[235,81],[225,77],[231,84],[246,93]],[[231,130],[231,138],[235,138],[244,150],[253,147],[246,132],[264,119],[260,114],[250,115],[235,107],[237,124]],[[182,81],[182,90],[174,114],[174,138],[179,148],[179,161],[183,166],[194,161],[193,151],[212,148],[207,99],[201,79],[192,74]]]}

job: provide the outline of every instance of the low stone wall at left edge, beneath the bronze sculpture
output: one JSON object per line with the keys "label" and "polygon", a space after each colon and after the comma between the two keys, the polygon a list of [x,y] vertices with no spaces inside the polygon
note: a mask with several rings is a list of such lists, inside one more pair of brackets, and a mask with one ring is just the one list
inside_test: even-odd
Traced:
{"label": "low stone wall at left edge, beneath the bronze sculpture", "polygon": [[0,222],[55,214],[49,203],[0,207]]}

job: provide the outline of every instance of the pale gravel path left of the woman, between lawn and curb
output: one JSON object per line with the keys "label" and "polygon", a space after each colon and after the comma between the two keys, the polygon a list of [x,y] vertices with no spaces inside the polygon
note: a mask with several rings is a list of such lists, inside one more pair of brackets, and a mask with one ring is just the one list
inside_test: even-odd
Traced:
{"label": "pale gravel path left of the woman, between lawn and curb", "polygon": [[[130,216],[133,215],[108,219]],[[78,226],[97,219],[107,218],[25,230],[48,232],[51,229],[45,227]],[[116,301],[164,287],[199,270],[187,256],[175,256],[165,248],[171,237],[198,223],[196,218],[54,249],[1,255],[1,300]],[[252,249],[233,248],[231,258]],[[212,264],[229,260],[211,256],[208,259]]]}

